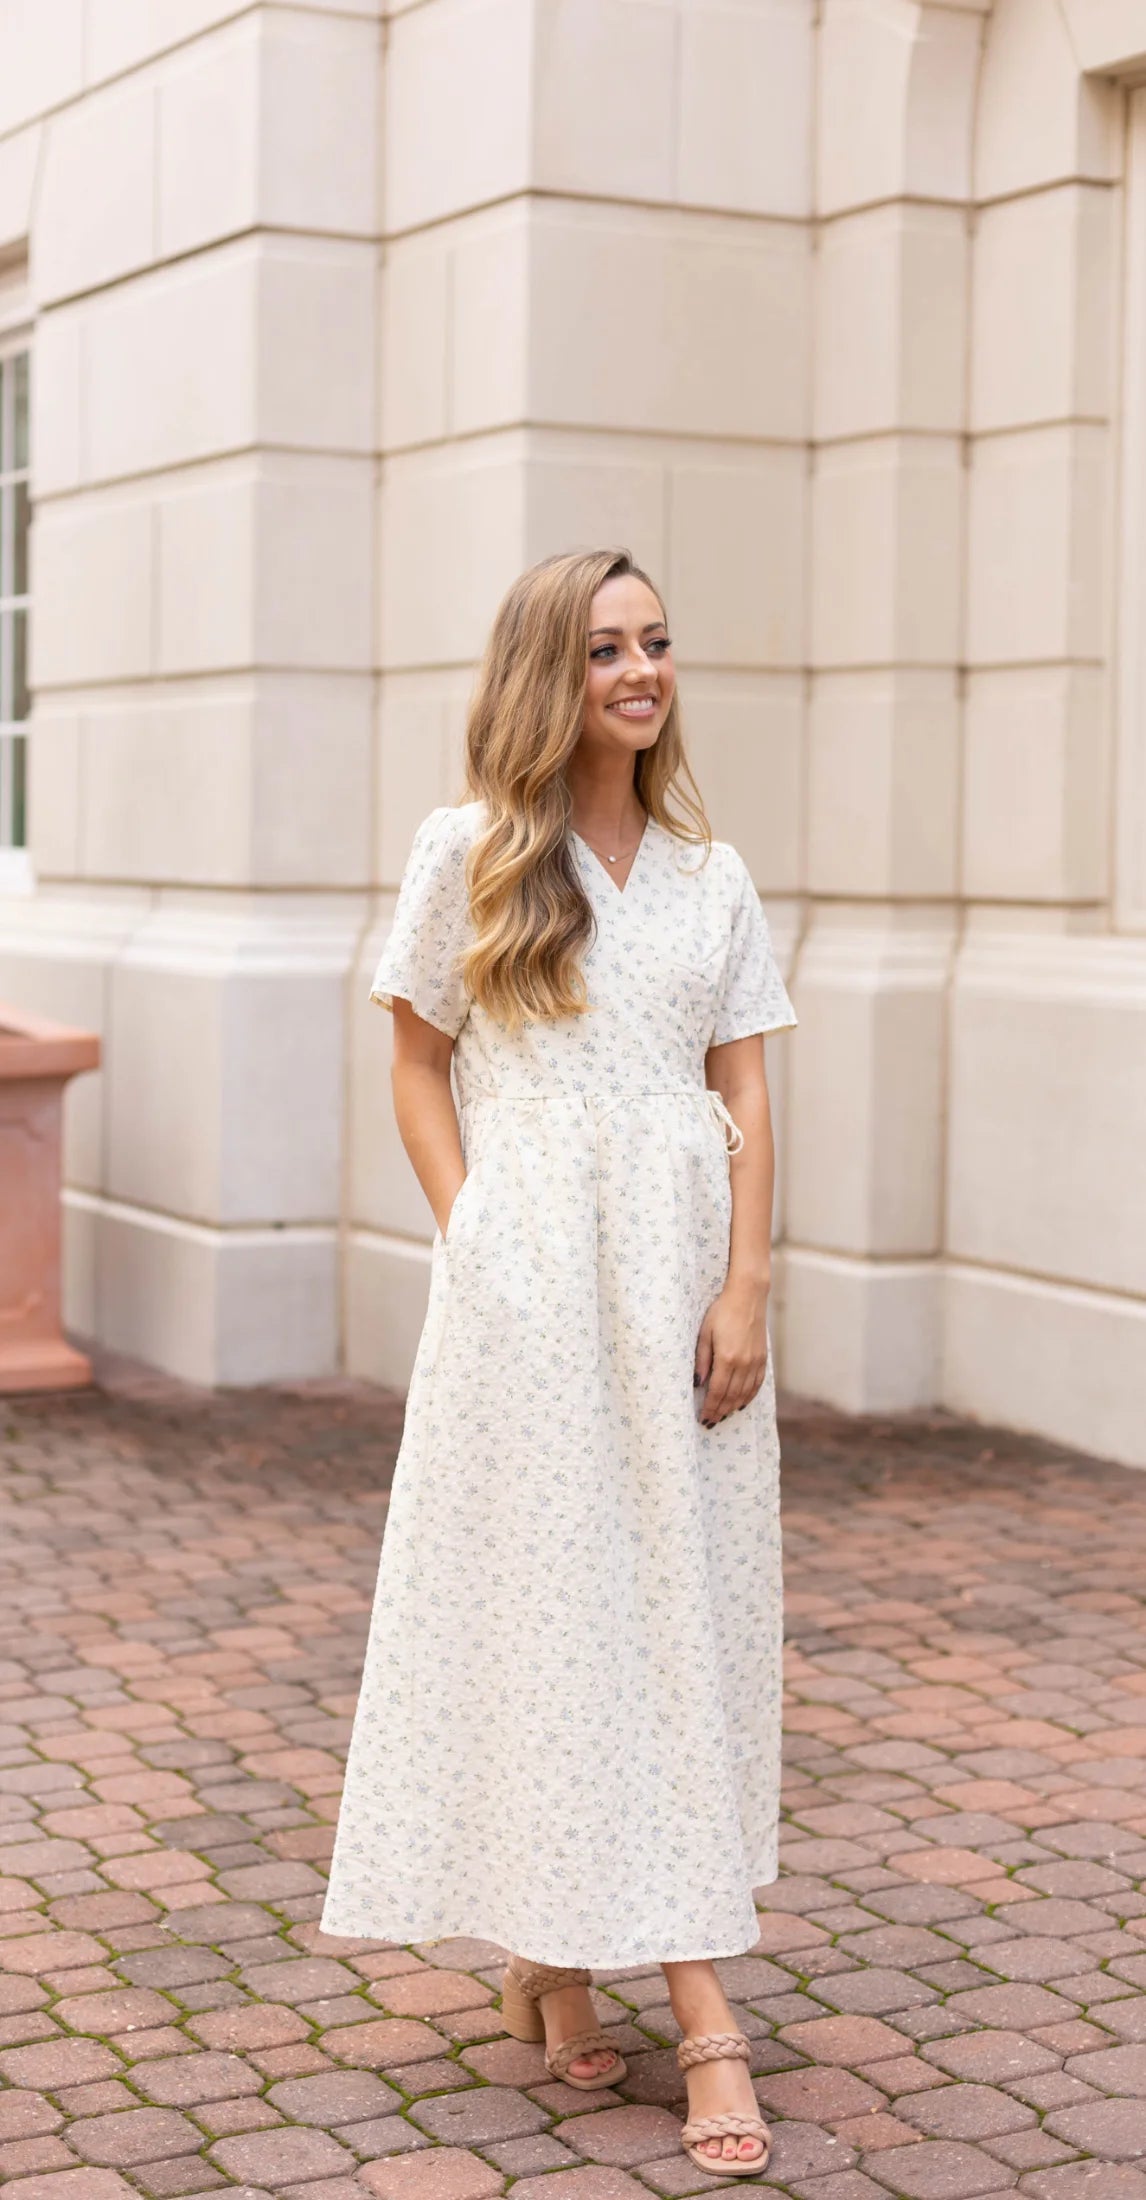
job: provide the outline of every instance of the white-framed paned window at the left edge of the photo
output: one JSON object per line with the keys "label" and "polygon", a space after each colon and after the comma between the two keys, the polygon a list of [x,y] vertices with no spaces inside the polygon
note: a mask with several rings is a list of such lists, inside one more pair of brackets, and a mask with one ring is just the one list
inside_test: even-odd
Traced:
{"label": "white-framed paned window at the left edge of the photo", "polygon": [[26,840],[29,345],[0,343],[0,849]]}

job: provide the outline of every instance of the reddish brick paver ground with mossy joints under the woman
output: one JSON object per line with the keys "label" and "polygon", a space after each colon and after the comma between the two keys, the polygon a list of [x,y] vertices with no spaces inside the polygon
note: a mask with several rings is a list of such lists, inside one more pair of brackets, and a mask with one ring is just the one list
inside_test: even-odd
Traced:
{"label": "reddish brick paver ground with mossy joints under the woman", "polygon": [[[0,2182],[13,2200],[642,2200],[497,1949],[321,1940],[398,1404],[0,1401]],[[1146,1478],[946,1419],[785,1423],[785,1879],[724,1965],[796,2200],[1146,2200]],[[1142,2167],[1135,2167],[1142,2165]]]}

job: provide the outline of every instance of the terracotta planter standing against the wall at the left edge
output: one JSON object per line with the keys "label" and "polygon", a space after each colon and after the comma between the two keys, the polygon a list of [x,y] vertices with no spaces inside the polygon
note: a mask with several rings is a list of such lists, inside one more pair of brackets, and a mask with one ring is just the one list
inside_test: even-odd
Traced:
{"label": "terracotta planter standing against the wall at the left edge", "polygon": [[0,1390],[92,1379],[59,1333],[59,1129],[64,1085],[97,1065],[95,1032],[0,1001]]}

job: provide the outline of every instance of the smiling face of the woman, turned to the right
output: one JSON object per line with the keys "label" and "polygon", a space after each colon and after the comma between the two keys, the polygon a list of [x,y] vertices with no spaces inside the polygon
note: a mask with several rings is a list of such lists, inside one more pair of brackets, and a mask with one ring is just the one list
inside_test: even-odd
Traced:
{"label": "smiling face of the woman, turned to the right", "polygon": [[589,609],[589,675],[585,682],[587,748],[651,748],[675,691],[673,645],[660,601],[647,581],[605,581]]}

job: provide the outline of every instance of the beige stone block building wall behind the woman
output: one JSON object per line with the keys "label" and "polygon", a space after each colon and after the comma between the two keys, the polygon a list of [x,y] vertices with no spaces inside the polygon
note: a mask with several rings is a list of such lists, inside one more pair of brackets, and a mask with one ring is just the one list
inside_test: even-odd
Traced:
{"label": "beige stone block building wall behind the woman", "polygon": [[405,1377],[367,977],[504,583],[625,541],[801,1014],[781,1377],[1146,1463],[1135,84],[1146,0],[0,0],[0,997],[106,1043],[77,1331]]}

